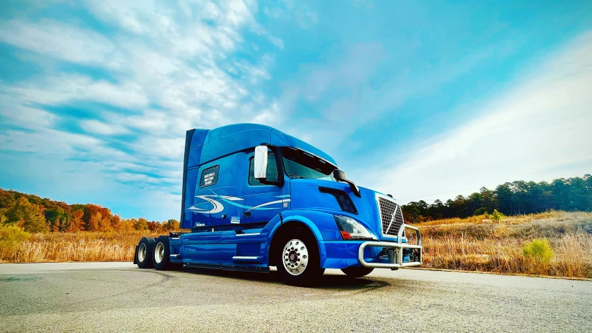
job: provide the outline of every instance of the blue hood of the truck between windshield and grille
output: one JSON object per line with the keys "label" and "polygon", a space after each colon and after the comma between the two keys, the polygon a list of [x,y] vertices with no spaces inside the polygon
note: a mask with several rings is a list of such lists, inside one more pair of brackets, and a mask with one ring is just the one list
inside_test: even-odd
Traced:
{"label": "blue hood of the truck between windshield and grille", "polygon": [[[338,204],[338,200],[329,189],[340,190],[347,194],[352,200],[356,213],[344,211]],[[291,206],[292,209],[307,209],[313,211],[322,211],[334,215],[350,216],[359,220],[372,234],[379,239],[392,240],[395,236],[383,237],[381,233],[381,218],[379,214],[379,205],[377,203],[377,193],[370,188],[360,187],[361,197],[352,193],[350,186],[337,181],[315,180],[315,179],[291,179]]]}

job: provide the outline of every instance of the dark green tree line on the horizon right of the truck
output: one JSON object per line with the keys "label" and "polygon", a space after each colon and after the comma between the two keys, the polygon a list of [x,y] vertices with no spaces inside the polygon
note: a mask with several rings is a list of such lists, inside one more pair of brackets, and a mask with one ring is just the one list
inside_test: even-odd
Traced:
{"label": "dark green tree line on the horizon right of the truck", "polygon": [[446,202],[433,204],[420,200],[402,206],[404,218],[409,222],[466,218],[493,213],[505,215],[541,213],[543,211],[592,211],[592,176],[560,178],[551,181],[513,181],[489,190],[482,187],[468,197],[458,195]]}

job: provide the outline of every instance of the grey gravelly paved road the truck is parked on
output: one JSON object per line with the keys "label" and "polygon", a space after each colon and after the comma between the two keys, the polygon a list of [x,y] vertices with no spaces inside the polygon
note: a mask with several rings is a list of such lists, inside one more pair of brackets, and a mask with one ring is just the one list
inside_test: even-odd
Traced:
{"label": "grey gravelly paved road the truck is parked on", "polygon": [[142,270],[131,263],[0,264],[0,332],[592,332],[592,282],[327,270]]}

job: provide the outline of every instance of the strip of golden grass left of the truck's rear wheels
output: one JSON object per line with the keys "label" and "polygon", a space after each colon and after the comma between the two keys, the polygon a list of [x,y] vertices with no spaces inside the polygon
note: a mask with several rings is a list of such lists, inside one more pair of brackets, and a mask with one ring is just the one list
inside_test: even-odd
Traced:
{"label": "strip of golden grass left of the truck's rear wheels", "polygon": [[0,247],[0,262],[132,261],[135,245],[151,232],[34,234],[15,246]]}

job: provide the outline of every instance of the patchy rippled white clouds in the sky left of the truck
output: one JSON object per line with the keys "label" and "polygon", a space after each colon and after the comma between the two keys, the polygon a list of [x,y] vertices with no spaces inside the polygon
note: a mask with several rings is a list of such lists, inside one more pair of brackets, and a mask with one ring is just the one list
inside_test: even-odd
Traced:
{"label": "patchy rippled white clouds in the sky left of the truck", "polygon": [[[0,42],[30,51],[38,56],[27,60],[42,63],[41,72],[24,81],[0,82],[0,125],[10,125],[0,133],[1,152],[32,152],[60,168],[104,172],[101,177],[135,183],[170,203],[179,201],[167,193],[181,190],[187,129],[276,119],[277,104],[260,88],[270,79],[273,56],[244,43],[242,35],[250,30],[280,48],[282,41],[255,22],[253,1],[88,0],[59,6],[88,9],[108,30],[85,29],[76,19],[35,20],[26,12],[0,23]],[[258,60],[236,60],[237,50]],[[88,71],[62,72],[63,63]],[[99,120],[85,119],[97,104]],[[84,133],[70,132],[72,123]],[[177,210],[158,217],[174,217]]]}

